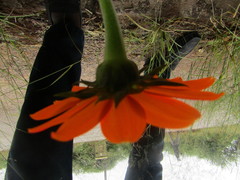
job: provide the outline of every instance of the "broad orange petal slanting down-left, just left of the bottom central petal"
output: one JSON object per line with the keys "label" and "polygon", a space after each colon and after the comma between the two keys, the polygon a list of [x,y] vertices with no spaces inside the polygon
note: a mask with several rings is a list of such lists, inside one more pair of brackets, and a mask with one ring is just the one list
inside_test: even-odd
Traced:
{"label": "broad orange petal slanting down-left, just left of the bottom central petal", "polygon": [[[94,98],[97,100],[97,97]],[[108,113],[111,105],[112,101],[110,100],[89,104],[80,113],[64,122],[56,132],[52,132],[51,137],[58,141],[69,141],[86,133]]]}

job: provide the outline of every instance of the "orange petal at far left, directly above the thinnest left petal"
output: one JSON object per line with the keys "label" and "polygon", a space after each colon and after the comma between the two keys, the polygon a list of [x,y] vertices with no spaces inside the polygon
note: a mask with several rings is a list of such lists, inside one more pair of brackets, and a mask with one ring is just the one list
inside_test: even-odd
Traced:
{"label": "orange petal at far left, directly above the thinnest left petal", "polygon": [[64,100],[55,101],[52,105],[41,109],[40,111],[33,113],[30,117],[34,120],[45,120],[52,118],[70,108],[75,106],[81,100],[76,97],[70,97]]}

